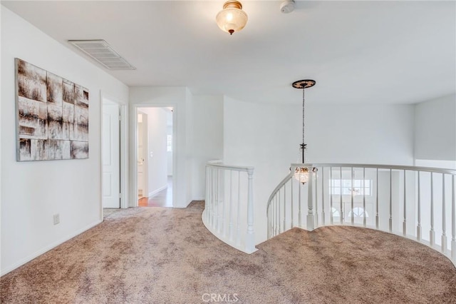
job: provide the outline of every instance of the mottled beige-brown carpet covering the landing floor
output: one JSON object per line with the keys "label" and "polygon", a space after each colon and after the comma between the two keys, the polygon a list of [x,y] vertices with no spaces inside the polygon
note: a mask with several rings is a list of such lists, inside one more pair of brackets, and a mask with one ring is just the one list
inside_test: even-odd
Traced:
{"label": "mottled beige-brown carpet covering the landing floor", "polygon": [[186,209],[129,208],[1,278],[1,303],[456,303],[450,260],[365,228],[294,228],[247,255]]}

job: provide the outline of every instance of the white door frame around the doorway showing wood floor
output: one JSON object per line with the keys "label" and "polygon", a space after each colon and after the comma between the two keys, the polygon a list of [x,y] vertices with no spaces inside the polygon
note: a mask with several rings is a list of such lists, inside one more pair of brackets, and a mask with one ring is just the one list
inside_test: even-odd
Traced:
{"label": "white door frame around the doorway showing wood floor", "polygon": [[[138,108],[168,108],[172,107],[172,206],[176,206],[177,199],[177,103],[133,103],[130,105],[130,128],[133,129],[132,146],[134,151],[130,154],[130,163],[133,178],[131,179],[133,185],[131,186],[130,193],[130,207],[138,207]],[[133,193],[133,194],[132,194]]]}

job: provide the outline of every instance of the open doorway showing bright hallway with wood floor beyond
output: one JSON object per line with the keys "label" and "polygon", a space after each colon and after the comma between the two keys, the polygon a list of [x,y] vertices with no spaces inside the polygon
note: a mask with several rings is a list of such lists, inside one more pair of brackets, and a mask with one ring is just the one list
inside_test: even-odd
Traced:
{"label": "open doorway showing bright hallway with wood floor beyond", "polygon": [[136,109],[138,206],[172,207],[172,112],[171,107]]}

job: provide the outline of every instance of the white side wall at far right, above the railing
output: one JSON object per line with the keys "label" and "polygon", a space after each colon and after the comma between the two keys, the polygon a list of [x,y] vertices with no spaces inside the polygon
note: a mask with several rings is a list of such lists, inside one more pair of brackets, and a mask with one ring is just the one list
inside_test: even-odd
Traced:
{"label": "white side wall at far right, above the railing", "polygon": [[456,94],[415,105],[415,158],[456,161]]}

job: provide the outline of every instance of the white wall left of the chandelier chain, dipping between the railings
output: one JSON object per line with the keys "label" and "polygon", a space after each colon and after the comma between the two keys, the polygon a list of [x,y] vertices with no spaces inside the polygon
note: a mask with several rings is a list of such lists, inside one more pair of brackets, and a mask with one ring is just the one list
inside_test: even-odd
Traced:
{"label": "white wall left of the chandelier chain, dipping between the railings", "polygon": [[266,239],[266,203],[299,156],[301,106],[224,98],[224,163],[254,167],[256,242]]}

